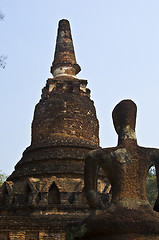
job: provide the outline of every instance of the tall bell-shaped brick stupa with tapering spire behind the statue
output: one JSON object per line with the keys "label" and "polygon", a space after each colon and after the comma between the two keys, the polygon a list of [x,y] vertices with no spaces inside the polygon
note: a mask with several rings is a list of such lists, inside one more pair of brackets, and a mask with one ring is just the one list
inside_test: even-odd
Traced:
{"label": "tall bell-shaped brick stupa with tapering spire behind the statue", "polygon": [[[0,189],[0,240],[65,239],[67,224],[90,213],[84,160],[99,145],[99,126],[87,80],[76,77],[80,70],[69,22],[61,20],[31,145]],[[106,196],[102,179],[101,172],[98,190]]]}

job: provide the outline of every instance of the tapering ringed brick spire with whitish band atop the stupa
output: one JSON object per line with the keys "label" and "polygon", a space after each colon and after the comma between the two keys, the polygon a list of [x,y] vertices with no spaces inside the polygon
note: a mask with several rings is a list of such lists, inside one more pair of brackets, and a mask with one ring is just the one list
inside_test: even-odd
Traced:
{"label": "tapering ringed brick spire with whitish band atop the stupa", "polygon": [[51,73],[54,77],[61,75],[75,76],[81,71],[76,62],[69,21],[59,21],[54,61]]}

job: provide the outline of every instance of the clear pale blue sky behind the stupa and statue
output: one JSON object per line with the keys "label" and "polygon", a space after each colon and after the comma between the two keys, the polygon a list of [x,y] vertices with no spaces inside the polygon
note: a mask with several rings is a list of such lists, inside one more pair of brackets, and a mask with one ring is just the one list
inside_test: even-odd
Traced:
{"label": "clear pale blue sky behind the stupa and statue", "polygon": [[115,146],[111,113],[138,106],[138,144],[159,148],[158,0],[0,0],[0,169],[11,174],[30,145],[31,122],[51,77],[58,21],[71,24],[76,59],[100,123],[100,145]]}

